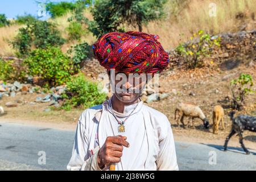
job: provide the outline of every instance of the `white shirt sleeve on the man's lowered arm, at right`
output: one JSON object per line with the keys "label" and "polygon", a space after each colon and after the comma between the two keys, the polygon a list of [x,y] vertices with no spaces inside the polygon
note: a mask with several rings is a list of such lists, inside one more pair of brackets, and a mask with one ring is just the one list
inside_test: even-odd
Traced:
{"label": "white shirt sleeve on the man's lowered arm, at right", "polygon": [[171,123],[167,120],[162,128],[162,135],[159,139],[159,155],[157,159],[157,168],[159,171],[177,171],[176,149],[174,143],[174,135],[172,134]]}

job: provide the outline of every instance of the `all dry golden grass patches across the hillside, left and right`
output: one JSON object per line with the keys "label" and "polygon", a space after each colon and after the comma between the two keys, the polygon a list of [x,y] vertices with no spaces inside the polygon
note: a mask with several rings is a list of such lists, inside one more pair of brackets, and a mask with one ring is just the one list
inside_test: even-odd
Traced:
{"label": "all dry golden grass patches across the hillside, left and right", "polygon": [[[167,50],[176,47],[181,42],[189,40],[194,32],[205,30],[210,34],[221,32],[240,31],[241,27],[247,25],[246,30],[256,27],[256,3],[255,0],[216,0],[216,17],[209,16],[209,4],[212,0],[169,0],[165,6],[166,18],[161,21],[153,21],[143,27],[143,31],[158,34],[160,42]],[[89,10],[84,12],[85,17],[93,19]],[[237,16],[240,15],[237,18]],[[71,13],[49,21],[55,22],[65,39],[68,38],[66,28],[69,25],[67,19]],[[14,55],[14,50],[8,46],[7,40],[12,40],[19,26],[0,28],[0,55]],[[138,30],[138,28],[127,26],[127,31]],[[82,37],[81,42],[92,44],[96,38],[91,34]],[[62,50],[66,52],[77,41],[67,42]]]}

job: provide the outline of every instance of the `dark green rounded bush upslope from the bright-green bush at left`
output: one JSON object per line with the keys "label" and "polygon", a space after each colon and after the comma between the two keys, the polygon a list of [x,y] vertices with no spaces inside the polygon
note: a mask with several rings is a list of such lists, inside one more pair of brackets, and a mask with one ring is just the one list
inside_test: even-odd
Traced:
{"label": "dark green rounded bush upslope from the bright-green bush at left", "polygon": [[19,33],[12,44],[18,50],[19,56],[25,56],[31,51],[31,47],[61,46],[64,42],[55,24],[36,21],[28,23],[25,28],[19,28]]}

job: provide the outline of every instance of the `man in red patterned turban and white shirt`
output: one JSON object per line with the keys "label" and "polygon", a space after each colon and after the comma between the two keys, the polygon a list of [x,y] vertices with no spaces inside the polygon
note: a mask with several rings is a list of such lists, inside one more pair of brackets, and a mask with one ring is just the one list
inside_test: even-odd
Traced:
{"label": "man in red patterned turban and white shirt", "polygon": [[81,114],[68,170],[178,170],[168,118],[139,98],[149,80],[129,77],[154,76],[167,67],[168,54],[157,39],[143,32],[110,32],[93,45],[114,94]]}

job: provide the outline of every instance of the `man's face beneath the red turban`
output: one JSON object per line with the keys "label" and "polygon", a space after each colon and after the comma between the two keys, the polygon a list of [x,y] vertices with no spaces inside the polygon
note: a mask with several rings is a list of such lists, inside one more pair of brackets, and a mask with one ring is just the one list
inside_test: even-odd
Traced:
{"label": "man's face beneath the red turban", "polygon": [[138,73],[110,72],[110,84],[121,102],[133,102],[141,95],[146,85],[146,75]]}

